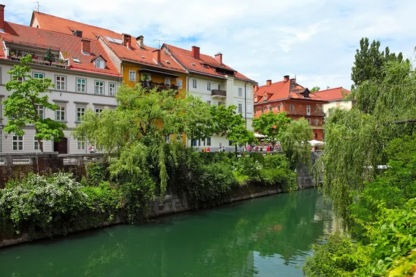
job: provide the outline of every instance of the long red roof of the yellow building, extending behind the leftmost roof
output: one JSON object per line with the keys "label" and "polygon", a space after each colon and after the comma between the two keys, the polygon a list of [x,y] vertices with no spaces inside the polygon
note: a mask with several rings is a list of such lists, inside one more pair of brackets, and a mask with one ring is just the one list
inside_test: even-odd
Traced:
{"label": "long red roof of the yellow building, extending behind the leftmost roof", "polygon": [[152,66],[157,69],[165,69],[169,71],[180,71],[185,73],[180,64],[177,64],[175,60],[168,53],[161,51],[160,53],[160,64],[157,64],[153,61],[153,51],[157,50],[149,46],[144,46],[140,48],[136,42],[135,37],[131,38],[132,47],[128,49],[123,46],[123,44],[117,44],[115,42],[110,42],[107,37],[112,37],[114,39],[122,39],[122,35],[112,30],[107,30],[105,28],[100,28],[96,26],[91,26],[88,24],[83,24],[80,22],[72,21],[69,19],[64,19],[61,17],[55,17],[53,15],[46,15],[42,12],[33,12],[32,23],[34,18],[37,19],[39,28],[45,30],[55,30],[60,33],[66,33],[72,35],[74,30],[83,31],[83,37],[89,39],[97,39],[101,37],[103,41],[110,47],[110,49],[119,57],[120,60],[125,60],[128,62],[135,62],[139,64],[144,64],[147,66]]}

